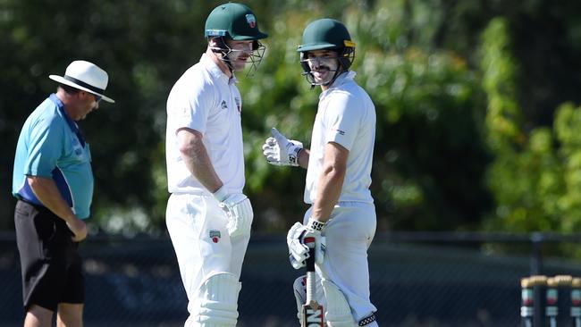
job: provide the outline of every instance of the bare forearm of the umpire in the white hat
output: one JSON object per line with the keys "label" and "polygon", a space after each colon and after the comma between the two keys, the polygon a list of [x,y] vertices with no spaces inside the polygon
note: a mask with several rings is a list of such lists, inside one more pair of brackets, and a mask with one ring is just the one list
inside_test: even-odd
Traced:
{"label": "bare forearm of the umpire in the white hat", "polygon": [[61,192],[55,184],[55,180],[45,177],[29,176],[27,178],[30,189],[37,196],[38,200],[51,212],[63,219],[65,222],[72,222],[77,216],[72,212],[69,204],[64,200]]}

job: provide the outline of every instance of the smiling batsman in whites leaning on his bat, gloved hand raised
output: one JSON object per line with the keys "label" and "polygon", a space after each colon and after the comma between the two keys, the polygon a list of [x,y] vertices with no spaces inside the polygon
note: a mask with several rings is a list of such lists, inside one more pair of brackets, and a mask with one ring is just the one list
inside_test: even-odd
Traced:
{"label": "smiling batsman in whites leaning on his bat, gloved hand raised", "polygon": [[[316,302],[331,327],[377,326],[369,300],[367,248],[375,236],[371,166],[375,144],[375,105],[349,71],[355,43],[340,22],[320,19],[307,25],[298,49],[303,75],[322,90],[310,150],[276,129],[263,153],[269,164],[307,169],[303,222],[287,236],[290,263],[305,266],[306,239],[316,239]],[[303,319],[305,278],[294,282]],[[303,324],[303,322],[300,322]]]}

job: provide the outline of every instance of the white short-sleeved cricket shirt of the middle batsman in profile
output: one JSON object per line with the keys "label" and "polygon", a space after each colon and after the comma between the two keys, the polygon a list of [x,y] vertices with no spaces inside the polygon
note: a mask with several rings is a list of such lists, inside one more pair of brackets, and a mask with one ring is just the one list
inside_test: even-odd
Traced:
{"label": "white short-sleeved cricket shirt of the middle batsman in profile", "polygon": [[206,54],[185,71],[167,99],[165,158],[171,193],[208,193],[189,172],[180,153],[177,131],[197,130],[218,177],[228,192],[244,188],[244,151],[240,113],[242,100],[235,85]]}

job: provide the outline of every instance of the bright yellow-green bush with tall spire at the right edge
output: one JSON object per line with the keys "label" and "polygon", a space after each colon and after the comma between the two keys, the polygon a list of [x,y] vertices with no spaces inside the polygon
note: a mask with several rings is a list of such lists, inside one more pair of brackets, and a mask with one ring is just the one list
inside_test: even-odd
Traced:
{"label": "bright yellow-green bush with tall spire at the right edge", "polygon": [[552,129],[523,127],[517,99],[517,69],[507,21],[484,32],[483,83],[488,96],[486,129],[495,160],[488,184],[497,208],[489,230],[576,231],[580,226],[581,111],[561,105]]}

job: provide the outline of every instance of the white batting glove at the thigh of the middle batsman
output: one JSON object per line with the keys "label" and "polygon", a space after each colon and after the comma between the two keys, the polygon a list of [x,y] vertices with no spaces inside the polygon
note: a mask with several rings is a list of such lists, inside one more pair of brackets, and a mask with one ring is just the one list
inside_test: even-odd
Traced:
{"label": "white batting glove at the thigh of the middle batsman", "polygon": [[231,238],[240,235],[249,235],[250,227],[252,226],[252,219],[254,213],[252,212],[252,205],[247,196],[242,193],[226,194],[223,188],[218,189],[214,193],[214,197],[220,203],[220,207],[228,217],[228,234]]}

